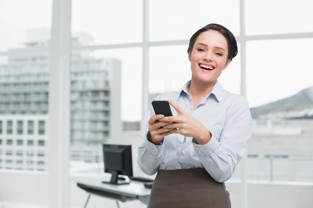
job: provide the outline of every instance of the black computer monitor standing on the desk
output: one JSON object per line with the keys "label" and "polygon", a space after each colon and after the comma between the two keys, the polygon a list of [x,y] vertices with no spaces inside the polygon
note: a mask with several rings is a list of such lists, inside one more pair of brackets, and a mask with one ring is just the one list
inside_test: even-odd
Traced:
{"label": "black computer monitor standing on the desk", "polygon": [[[109,184],[129,184],[118,175],[132,176],[131,145],[102,144],[104,172],[111,173]],[[123,180],[121,180],[123,179]]]}

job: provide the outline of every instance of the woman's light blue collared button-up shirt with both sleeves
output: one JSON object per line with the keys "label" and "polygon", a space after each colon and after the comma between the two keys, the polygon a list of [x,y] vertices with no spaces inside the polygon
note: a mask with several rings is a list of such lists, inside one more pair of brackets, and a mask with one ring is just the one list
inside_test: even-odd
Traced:
{"label": "woman's light blue collared button-up shirt with both sleeves", "polygon": [[[198,145],[191,137],[170,134],[164,137],[161,145],[154,145],[145,137],[138,148],[139,168],[147,175],[153,175],[159,169],[204,168],[215,181],[227,181],[243,157],[251,135],[249,105],[243,96],[224,90],[216,82],[207,97],[193,109],[189,84],[190,81],[180,91],[160,94],[155,100],[174,101],[206,126],[212,134],[210,141]],[[171,111],[173,116],[177,116],[172,107]],[[151,107],[147,119],[152,115],[154,111]]]}

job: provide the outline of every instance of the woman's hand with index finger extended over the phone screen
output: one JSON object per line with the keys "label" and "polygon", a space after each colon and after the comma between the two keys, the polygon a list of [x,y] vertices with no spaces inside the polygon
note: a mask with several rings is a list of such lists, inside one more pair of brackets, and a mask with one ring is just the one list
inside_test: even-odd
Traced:
{"label": "woman's hand with index finger extended over the phone screen", "polygon": [[168,100],[168,103],[176,110],[177,116],[165,116],[161,119],[164,122],[173,122],[163,128],[174,129],[170,133],[181,134],[186,137],[193,137],[199,145],[206,144],[211,135],[207,128],[202,125],[198,120],[185,113],[176,103]]}

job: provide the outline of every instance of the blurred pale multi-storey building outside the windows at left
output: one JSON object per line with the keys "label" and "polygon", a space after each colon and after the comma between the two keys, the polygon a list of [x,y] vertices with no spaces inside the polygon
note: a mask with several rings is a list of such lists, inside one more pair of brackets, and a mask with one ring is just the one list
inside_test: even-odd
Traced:
{"label": "blurred pale multi-storey building outside the windows at left", "polygon": [[[47,39],[37,38],[25,43],[25,49],[49,45]],[[72,44],[90,39],[77,35]],[[49,56],[22,53],[25,49],[11,49],[13,53],[0,64],[0,168],[44,171]],[[79,51],[71,54],[70,160],[97,162],[101,144],[120,137],[120,73],[119,60]]]}

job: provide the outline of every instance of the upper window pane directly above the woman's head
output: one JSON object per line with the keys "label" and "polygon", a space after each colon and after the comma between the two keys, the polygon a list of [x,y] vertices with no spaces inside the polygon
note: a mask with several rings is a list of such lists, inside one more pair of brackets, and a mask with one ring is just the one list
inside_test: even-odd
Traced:
{"label": "upper window pane directly above the woman's head", "polygon": [[189,39],[209,23],[239,34],[238,0],[150,0],[149,40]]}

